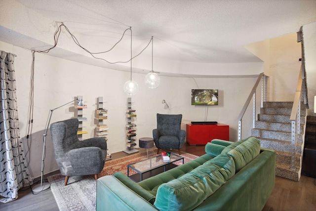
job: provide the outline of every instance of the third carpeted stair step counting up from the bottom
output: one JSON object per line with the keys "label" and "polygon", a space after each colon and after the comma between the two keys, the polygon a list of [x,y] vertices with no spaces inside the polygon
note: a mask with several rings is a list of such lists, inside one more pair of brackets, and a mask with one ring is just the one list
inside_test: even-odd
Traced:
{"label": "third carpeted stair step counting up from the bottom", "polygon": [[[256,136],[254,136],[256,137]],[[292,145],[291,141],[281,141],[277,139],[267,139],[262,137],[256,137],[260,140],[261,147],[282,151],[282,152],[288,152],[290,153],[292,151]],[[296,143],[296,154],[301,155],[302,154],[302,143]]]}

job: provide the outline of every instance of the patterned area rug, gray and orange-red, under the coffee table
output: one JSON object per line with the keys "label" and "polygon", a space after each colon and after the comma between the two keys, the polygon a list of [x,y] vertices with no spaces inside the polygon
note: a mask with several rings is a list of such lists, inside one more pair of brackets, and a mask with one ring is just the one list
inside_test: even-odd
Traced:
{"label": "patterned area rug, gray and orange-red, under the coffee table", "polygon": [[[153,154],[151,157],[156,156]],[[196,159],[198,156],[189,153],[182,153],[184,163]],[[112,175],[117,171],[127,174],[127,165],[147,159],[146,156],[140,156],[139,153],[108,160],[102,169],[99,177]],[[175,163],[181,165],[182,161]],[[70,176],[68,184],[64,186],[65,176],[55,174],[47,177],[50,182],[51,191],[55,197],[60,211],[95,211],[96,210],[96,181],[94,175]]]}

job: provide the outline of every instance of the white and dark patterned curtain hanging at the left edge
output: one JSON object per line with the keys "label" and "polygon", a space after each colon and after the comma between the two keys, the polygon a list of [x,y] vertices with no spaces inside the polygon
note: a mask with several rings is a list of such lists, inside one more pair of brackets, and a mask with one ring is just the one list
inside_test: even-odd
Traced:
{"label": "white and dark patterned curtain hanging at the left edge", "polygon": [[[20,137],[16,103],[14,54],[0,51],[0,202],[18,198],[21,187],[33,184]],[[1,205],[0,205],[1,207]]]}

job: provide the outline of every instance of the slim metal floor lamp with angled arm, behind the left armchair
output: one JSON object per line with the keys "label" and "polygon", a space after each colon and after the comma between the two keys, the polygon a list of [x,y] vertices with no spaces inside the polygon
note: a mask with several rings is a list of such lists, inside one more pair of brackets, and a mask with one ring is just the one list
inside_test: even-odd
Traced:
{"label": "slim metal floor lamp with angled arm, behind the left armchair", "polygon": [[41,191],[47,190],[48,188],[50,188],[50,183],[44,181],[43,171],[44,171],[44,157],[45,157],[46,136],[47,136],[47,131],[48,131],[48,127],[49,127],[49,123],[50,123],[50,119],[51,119],[51,116],[53,114],[53,111],[65,106],[65,105],[67,105],[69,103],[72,103],[72,102],[74,102],[76,100],[78,100],[80,103],[82,103],[82,99],[76,98],[75,100],[72,100],[72,101],[70,101],[70,102],[68,102],[68,103],[66,103],[66,104],[64,104],[62,106],[59,106],[57,108],[49,110],[49,115],[48,115],[48,118],[47,118],[45,130],[44,130],[44,134],[43,134],[43,155],[42,155],[42,158],[41,158],[40,184],[37,184],[37,185],[35,185],[32,188],[33,193],[40,193]]}

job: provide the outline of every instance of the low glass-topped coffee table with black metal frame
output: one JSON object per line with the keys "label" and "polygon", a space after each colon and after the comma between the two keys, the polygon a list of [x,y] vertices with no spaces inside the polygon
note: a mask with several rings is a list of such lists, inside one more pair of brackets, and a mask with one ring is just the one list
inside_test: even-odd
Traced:
{"label": "low glass-topped coffee table with black metal frame", "polygon": [[[142,181],[143,179],[147,179],[151,176],[157,175],[158,173],[164,172],[166,170],[172,169],[177,165],[173,164],[176,161],[182,160],[182,164],[184,164],[184,158],[175,155],[173,153],[170,154],[170,162],[163,162],[162,156],[159,155],[157,157],[149,158],[143,161],[139,161],[133,164],[127,165],[127,176],[131,178],[135,182]],[[129,175],[129,170],[133,169],[137,173]]]}

